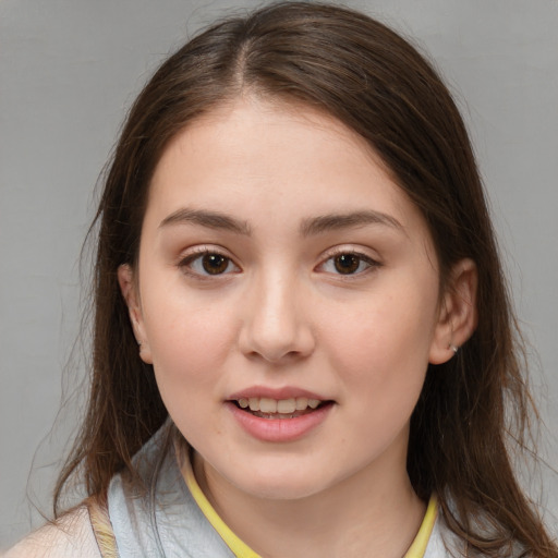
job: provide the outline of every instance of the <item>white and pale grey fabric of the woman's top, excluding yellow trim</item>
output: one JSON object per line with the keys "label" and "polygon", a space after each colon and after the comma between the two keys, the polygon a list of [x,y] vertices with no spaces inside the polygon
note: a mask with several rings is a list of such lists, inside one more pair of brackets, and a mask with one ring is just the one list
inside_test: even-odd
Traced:
{"label": "white and pale grey fabric of the woman's top, excluding yellow trim", "polygon": [[[110,484],[109,515],[120,558],[234,558],[184,482],[174,447],[170,445],[161,462],[157,462],[162,439],[160,434],[154,436],[134,458],[147,486],[154,474],[157,475],[154,498],[138,494],[125,475],[116,475]],[[445,539],[450,541],[452,536],[438,519],[423,558],[449,557]],[[4,558],[100,556],[87,508],[82,506],[56,525],[46,525],[24,538]]]}

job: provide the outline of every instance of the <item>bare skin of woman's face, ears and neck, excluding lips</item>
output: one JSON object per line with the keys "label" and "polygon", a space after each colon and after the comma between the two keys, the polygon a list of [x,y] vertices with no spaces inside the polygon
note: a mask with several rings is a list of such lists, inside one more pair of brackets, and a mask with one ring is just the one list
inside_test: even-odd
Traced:
{"label": "bare skin of woman's face, ears and neck, excluding lips", "polygon": [[[333,214],[355,222],[319,220]],[[439,292],[424,218],[360,137],[252,97],[193,122],[156,168],[138,265],[119,279],[198,483],[242,539],[266,557],[404,554],[425,509],[410,416],[428,363],[474,329],[476,271],[460,262]],[[265,441],[227,403],[252,387],[333,403],[301,438]]]}

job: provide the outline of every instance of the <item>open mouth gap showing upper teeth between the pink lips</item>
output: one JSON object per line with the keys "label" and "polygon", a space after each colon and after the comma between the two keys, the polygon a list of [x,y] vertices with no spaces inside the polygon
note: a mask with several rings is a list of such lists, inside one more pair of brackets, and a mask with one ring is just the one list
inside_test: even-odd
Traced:
{"label": "open mouth gap showing upper teeth between the pink lips", "polygon": [[231,399],[238,409],[259,418],[284,420],[298,418],[314,413],[318,409],[332,404],[332,401],[322,401],[306,397],[290,399],[271,399],[267,397],[251,397]]}

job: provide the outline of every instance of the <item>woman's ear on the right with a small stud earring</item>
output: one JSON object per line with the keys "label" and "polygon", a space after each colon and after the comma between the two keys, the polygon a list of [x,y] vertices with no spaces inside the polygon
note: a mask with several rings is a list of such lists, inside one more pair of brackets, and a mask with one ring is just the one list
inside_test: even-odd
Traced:
{"label": "woman's ear on the right with a small stud earring", "polygon": [[439,307],[429,362],[442,364],[473,335],[477,324],[478,274],[472,259],[459,260],[451,269]]}

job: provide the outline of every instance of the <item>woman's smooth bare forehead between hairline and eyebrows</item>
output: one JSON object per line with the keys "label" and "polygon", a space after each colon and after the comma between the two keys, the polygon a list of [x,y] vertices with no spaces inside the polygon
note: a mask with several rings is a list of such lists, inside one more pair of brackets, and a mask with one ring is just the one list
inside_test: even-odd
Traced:
{"label": "woman's smooth bare forehead between hairline and eyebrows", "polygon": [[192,122],[167,146],[147,211],[181,205],[239,217],[374,209],[410,226],[418,211],[372,147],[343,123],[298,104],[243,98]]}

